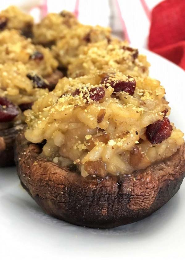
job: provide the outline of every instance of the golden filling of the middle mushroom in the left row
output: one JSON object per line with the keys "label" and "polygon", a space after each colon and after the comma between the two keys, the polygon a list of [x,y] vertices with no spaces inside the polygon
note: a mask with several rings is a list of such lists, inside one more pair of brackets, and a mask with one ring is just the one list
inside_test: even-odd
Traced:
{"label": "golden filling of the middle mushroom in the left row", "polygon": [[32,44],[30,38],[21,36],[17,30],[0,32],[0,63],[19,61],[28,71],[42,76],[50,75],[58,66],[48,48]]}

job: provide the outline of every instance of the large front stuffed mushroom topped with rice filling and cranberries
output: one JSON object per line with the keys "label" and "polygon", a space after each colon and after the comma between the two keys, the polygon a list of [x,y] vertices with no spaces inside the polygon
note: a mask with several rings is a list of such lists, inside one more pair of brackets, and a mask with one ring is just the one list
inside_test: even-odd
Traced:
{"label": "large front stuffed mushroom topped with rice filling and cranberries", "polygon": [[26,111],[23,187],[50,215],[110,228],[149,216],[185,176],[183,133],[160,82],[121,72],[63,78]]}

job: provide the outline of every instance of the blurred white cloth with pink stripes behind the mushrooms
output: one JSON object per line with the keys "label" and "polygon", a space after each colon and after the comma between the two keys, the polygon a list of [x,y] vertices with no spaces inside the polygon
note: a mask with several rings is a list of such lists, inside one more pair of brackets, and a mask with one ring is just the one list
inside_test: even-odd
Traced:
{"label": "blurred white cloth with pink stripes behind the mushrooms", "polygon": [[[110,26],[113,34],[129,40],[138,47],[146,47],[150,20],[144,9],[146,2],[148,9],[158,4],[158,0],[7,0],[1,1],[0,9],[9,5],[19,6],[20,9],[34,16],[38,22],[47,12],[58,13],[61,10],[75,12],[82,24],[99,24]],[[124,19],[124,21],[123,21]],[[125,25],[124,25],[125,23]],[[126,27],[126,29],[125,29]],[[127,33],[125,33],[127,30]],[[129,36],[128,36],[129,35]]]}

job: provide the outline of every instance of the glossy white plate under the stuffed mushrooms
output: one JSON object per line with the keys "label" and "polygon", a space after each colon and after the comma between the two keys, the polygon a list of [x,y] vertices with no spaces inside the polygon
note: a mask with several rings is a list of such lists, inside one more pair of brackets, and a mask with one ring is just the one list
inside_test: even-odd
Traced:
{"label": "glossy white plate under the stuffed mushrooms", "polygon": [[[151,63],[150,75],[166,88],[171,121],[185,131],[185,72],[156,54],[140,51]],[[35,269],[39,265],[43,269],[57,262],[61,269],[76,268],[78,259],[83,260],[81,269],[93,264],[97,269],[106,264],[112,268],[111,260],[114,267],[120,264],[130,269],[153,269],[155,264],[177,267],[185,250],[184,209],[185,182],[165,206],[145,220],[106,230],[78,227],[46,215],[20,186],[15,168],[0,169],[0,268],[19,265],[23,269],[33,263]],[[3,263],[6,268],[1,267]]]}

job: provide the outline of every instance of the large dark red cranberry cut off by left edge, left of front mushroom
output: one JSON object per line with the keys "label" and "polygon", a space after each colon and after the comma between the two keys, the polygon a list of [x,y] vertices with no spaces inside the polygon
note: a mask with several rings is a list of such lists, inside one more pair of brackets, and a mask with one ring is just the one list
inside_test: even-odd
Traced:
{"label": "large dark red cranberry cut off by left edge, left of front mushroom", "polygon": [[10,122],[19,114],[18,108],[4,97],[0,97],[0,122]]}

